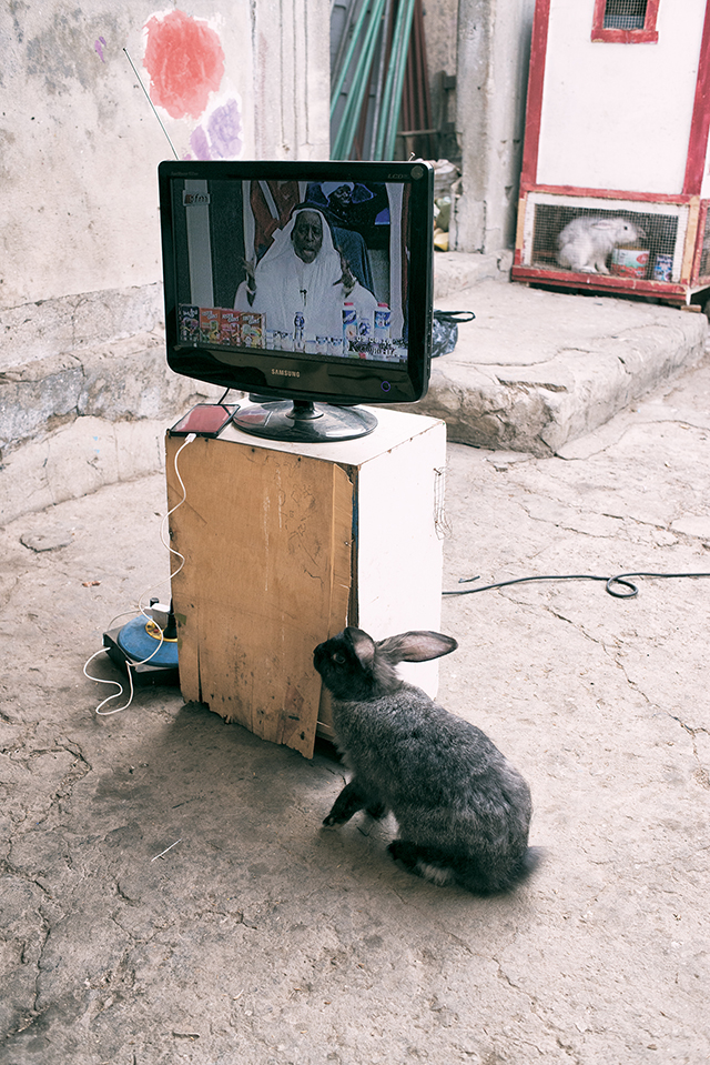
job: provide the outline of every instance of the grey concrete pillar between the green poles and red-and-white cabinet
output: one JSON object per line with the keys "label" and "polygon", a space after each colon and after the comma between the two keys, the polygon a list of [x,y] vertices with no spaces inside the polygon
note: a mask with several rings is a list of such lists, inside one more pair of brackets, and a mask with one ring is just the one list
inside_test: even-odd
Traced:
{"label": "grey concrete pillar between the green poles and red-and-white cabinet", "polygon": [[496,254],[515,243],[534,12],[535,0],[459,0],[457,251]]}

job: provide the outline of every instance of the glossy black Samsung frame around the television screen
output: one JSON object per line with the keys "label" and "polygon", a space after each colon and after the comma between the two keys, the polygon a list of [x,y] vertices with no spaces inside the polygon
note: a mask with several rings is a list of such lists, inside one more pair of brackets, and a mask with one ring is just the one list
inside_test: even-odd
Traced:
{"label": "glossy black Samsung frame around the television screen", "polygon": [[[325,359],[266,348],[185,343],[179,332],[174,180],[406,183],[409,255],[406,299],[407,360]],[[306,400],[349,406],[413,403],[426,394],[432,353],[434,171],[429,163],[341,161],[175,161],[159,165],[168,363],[175,373],[268,400]],[[236,288],[236,285],[235,285]],[[403,308],[404,309],[404,308]],[[220,354],[222,359],[220,359]],[[223,361],[225,354],[229,363]]]}

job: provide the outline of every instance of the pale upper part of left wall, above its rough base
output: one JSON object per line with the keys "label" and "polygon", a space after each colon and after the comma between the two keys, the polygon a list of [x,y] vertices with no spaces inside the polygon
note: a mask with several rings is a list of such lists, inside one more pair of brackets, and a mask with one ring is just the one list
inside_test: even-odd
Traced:
{"label": "pale upper part of left wall, above its rough base", "polygon": [[[196,0],[168,19],[146,0],[3,4],[0,307],[160,279],[155,170],[172,151],[123,49],[180,157],[206,139],[211,158],[327,158],[327,7],[295,7],[294,20],[278,0]],[[149,44],[165,67],[153,78]]]}

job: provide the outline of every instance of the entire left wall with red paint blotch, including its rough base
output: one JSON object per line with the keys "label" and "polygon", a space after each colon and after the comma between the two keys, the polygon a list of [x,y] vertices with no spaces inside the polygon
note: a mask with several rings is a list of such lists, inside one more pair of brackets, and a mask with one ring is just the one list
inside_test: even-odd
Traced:
{"label": "entire left wall with red paint blotch, including its rough base", "polygon": [[205,394],[160,350],[156,168],[173,153],[124,49],[180,158],[326,159],[328,14],[2,6],[0,522],[158,469],[165,425]]}

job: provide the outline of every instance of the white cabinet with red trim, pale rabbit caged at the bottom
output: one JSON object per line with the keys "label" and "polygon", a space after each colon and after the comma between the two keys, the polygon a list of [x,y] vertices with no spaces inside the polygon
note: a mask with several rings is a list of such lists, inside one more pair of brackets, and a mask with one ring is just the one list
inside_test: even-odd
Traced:
{"label": "white cabinet with red trim, pale rabbit caged at the bottom", "polygon": [[710,288],[710,0],[537,0],[514,280]]}

